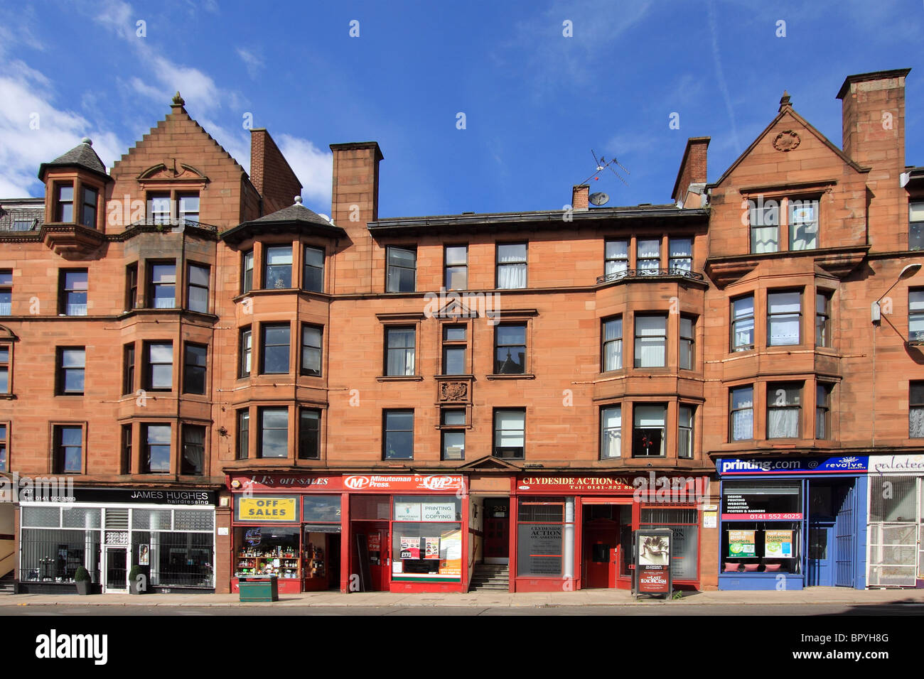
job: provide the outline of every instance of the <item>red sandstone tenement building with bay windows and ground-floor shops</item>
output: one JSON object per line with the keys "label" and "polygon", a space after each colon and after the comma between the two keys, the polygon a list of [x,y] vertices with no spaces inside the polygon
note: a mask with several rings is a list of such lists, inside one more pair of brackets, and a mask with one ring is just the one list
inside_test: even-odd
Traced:
{"label": "red sandstone tenement building with bay windows and ground-floor shops", "polygon": [[361,142],[328,220],[266,130],[248,175],[178,95],[109,172],[81,142],[0,201],[0,471],[55,483],[0,504],[0,569],[628,588],[668,527],[676,587],[914,586],[906,74],[845,80],[840,148],[788,96],[711,183],[689,139],[664,205],[380,218]]}

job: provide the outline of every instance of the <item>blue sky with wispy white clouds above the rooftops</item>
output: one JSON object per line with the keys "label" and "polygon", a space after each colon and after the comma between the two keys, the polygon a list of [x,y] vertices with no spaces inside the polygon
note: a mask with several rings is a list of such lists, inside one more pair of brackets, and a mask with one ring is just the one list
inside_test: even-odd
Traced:
{"label": "blue sky with wispy white clouds above the rooftops", "polygon": [[610,205],[669,202],[687,137],[711,136],[714,180],[788,90],[840,146],[845,76],[901,67],[924,164],[922,35],[922,0],[6,3],[0,197],[41,195],[85,135],[111,165],[176,90],[245,167],[245,115],[267,127],[324,213],[328,145],[371,139],[382,217],[561,209],[591,149],[630,172],[591,181]]}

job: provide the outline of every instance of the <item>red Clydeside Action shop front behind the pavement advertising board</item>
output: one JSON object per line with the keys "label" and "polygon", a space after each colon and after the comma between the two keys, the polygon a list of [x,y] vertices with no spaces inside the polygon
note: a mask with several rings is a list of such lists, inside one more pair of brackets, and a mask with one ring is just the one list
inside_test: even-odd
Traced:
{"label": "red Clydeside Action shop front behind the pavement advertising board", "polygon": [[699,588],[699,500],[707,477],[519,476],[511,488],[515,591],[632,587],[632,533],[674,531],[675,584]]}

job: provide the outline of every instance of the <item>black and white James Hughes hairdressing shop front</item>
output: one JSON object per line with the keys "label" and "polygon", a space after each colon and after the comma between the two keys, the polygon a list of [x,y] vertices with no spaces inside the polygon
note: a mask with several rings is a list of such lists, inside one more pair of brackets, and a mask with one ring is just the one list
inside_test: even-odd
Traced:
{"label": "black and white James Hughes hairdressing shop front", "polygon": [[213,592],[213,491],[76,488],[56,502],[19,503],[19,592],[76,593],[77,569],[93,590]]}

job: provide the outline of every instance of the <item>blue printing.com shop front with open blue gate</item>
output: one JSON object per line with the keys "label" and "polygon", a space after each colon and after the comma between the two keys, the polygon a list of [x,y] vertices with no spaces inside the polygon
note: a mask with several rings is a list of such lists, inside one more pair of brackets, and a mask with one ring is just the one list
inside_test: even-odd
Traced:
{"label": "blue printing.com shop front with open blue gate", "polygon": [[867,456],[723,458],[719,589],[866,588]]}

